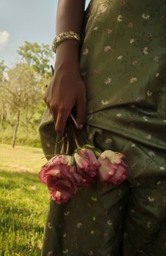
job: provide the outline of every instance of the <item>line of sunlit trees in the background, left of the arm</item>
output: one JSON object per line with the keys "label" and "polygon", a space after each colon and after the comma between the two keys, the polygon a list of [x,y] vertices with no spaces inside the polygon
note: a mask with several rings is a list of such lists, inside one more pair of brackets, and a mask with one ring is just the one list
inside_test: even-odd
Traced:
{"label": "line of sunlit trees in the background, left of the arm", "polygon": [[25,136],[37,133],[45,107],[42,95],[51,80],[53,61],[49,45],[37,42],[25,42],[18,48],[18,55],[21,61],[12,68],[0,61],[0,142],[11,141],[13,147],[19,128]]}

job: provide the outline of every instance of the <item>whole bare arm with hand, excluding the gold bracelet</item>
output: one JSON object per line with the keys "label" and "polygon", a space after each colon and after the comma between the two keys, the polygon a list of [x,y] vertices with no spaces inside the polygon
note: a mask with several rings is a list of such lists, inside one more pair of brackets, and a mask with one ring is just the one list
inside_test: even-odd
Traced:
{"label": "whole bare arm with hand, excluding the gold bracelet", "polygon": [[[58,1],[56,35],[69,30],[80,33],[84,4],[85,0]],[[44,100],[51,110],[58,135],[63,135],[73,106],[77,109],[78,125],[84,122],[86,90],[79,73],[79,43],[74,39],[65,40],[57,47],[55,73]]]}

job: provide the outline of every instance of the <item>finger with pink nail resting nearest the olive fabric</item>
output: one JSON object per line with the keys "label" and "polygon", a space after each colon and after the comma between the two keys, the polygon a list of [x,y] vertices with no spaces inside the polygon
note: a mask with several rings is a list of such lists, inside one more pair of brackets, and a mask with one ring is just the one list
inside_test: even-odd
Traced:
{"label": "finger with pink nail resting nearest the olive fabric", "polygon": [[75,121],[77,123],[78,129],[84,128],[86,109],[87,109],[86,104],[87,104],[86,97],[81,96],[77,99]]}

